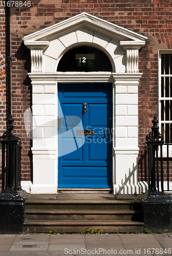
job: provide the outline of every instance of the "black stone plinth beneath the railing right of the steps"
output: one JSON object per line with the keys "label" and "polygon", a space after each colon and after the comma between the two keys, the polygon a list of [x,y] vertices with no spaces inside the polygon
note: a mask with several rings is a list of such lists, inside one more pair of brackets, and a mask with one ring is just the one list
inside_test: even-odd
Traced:
{"label": "black stone plinth beneath the railing right of the steps", "polygon": [[144,215],[144,230],[154,233],[172,230],[172,195],[164,193],[149,193],[142,200]]}

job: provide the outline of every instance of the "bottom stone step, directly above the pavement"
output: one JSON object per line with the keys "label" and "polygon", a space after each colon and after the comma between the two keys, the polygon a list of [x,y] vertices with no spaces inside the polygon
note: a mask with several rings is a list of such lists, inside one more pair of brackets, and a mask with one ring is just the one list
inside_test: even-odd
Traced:
{"label": "bottom stone step, directly above the pavement", "polygon": [[24,232],[82,232],[85,228],[98,228],[102,232],[143,232],[143,222],[134,221],[28,221],[24,223]]}

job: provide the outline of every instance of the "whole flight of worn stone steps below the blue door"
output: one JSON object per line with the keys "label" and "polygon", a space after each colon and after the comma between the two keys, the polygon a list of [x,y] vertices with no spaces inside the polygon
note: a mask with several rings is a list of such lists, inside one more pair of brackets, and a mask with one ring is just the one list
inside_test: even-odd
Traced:
{"label": "whole flight of worn stone steps below the blue door", "polygon": [[[143,231],[141,196],[113,194],[28,195],[25,232]],[[130,197],[130,198],[128,198]]]}

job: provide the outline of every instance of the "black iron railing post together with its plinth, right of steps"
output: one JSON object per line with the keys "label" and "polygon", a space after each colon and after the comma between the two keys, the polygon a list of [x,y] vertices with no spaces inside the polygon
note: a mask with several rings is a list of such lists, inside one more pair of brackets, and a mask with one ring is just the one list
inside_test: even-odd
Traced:
{"label": "black iron railing post together with its plinth, right of steps", "polygon": [[[156,116],[154,116],[152,123],[152,131],[146,136],[148,154],[148,193],[145,195],[145,198],[142,199],[144,230],[150,230],[152,232],[162,230],[169,232],[172,228],[172,195],[166,195],[164,193],[162,155],[162,146],[164,145],[164,141],[162,135],[159,133],[159,127],[157,126],[158,120]],[[161,192],[159,191],[159,147],[161,161]]]}

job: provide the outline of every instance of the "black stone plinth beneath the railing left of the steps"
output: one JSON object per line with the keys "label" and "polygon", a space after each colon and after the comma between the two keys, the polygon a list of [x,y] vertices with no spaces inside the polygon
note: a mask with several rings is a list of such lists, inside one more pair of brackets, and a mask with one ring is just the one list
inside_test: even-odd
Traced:
{"label": "black stone plinth beneath the railing left of the steps", "polygon": [[14,234],[24,230],[25,200],[16,192],[0,193],[0,233]]}

